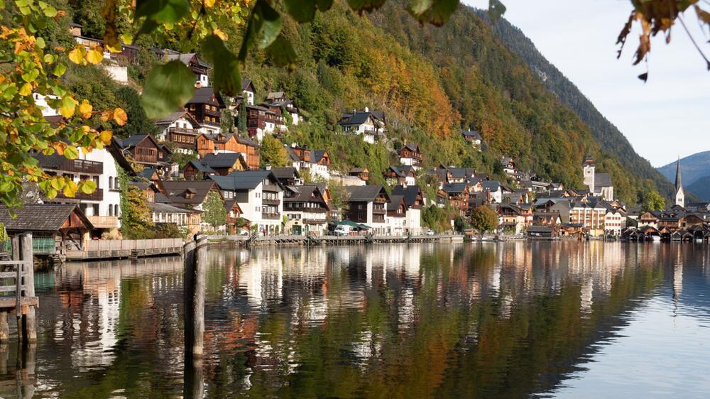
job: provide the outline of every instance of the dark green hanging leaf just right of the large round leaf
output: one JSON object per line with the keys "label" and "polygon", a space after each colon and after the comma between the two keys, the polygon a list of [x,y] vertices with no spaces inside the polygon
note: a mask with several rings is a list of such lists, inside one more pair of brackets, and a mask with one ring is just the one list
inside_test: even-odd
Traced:
{"label": "dark green hanging leaf just right of the large round leaf", "polygon": [[202,52],[214,65],[214,90],[232,97],[241,94],[239,60],[226,48],[224,41],[217,35],[209,35],[202,42]]}

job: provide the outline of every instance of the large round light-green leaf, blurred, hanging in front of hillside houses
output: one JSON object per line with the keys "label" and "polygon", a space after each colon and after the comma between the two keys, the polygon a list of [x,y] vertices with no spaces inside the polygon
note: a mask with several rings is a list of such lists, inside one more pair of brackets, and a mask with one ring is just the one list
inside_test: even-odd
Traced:
{"label": "large round light-green leaf, blurred, hanging in front of hillside houses", "polygon": [[141,103],[148,118],[175,112],[195,95],[195,74],[179,60],[156,65],[148,72]]}

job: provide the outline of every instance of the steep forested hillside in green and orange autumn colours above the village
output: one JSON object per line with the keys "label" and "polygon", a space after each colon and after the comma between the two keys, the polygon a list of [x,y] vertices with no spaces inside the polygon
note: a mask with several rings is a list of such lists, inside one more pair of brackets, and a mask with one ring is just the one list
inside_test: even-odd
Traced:
{"label": "steep forested hillside in green and orange autumn colours above the village", "polygon": [[[403,4],[388,1],[381,11],[360,16],[336,1],[312,23],[284,21],[283,32],[299,59],[295,70],[274,67],[259,53],[247,61],[243,75],[253,81],[257,102],[269,91],[283,90],[303,111],[307,123],[293,126],[285,141],[326,149],[336,169],[367,167],[374,182],[382,182],[381,172],[396,163],[391,149],[410,141],[422,146],[427,168],[466,166],[505,179],[497,159],[508,155],[518,158],[520,168],[568,187],[581,187],[582,157],[590,153],[598,170],[613,176],[618,197],[637,202],[649,183],[603,151],[589,126],[474,11],[460,6],[451,21],[436,28],[420,26]],[[75,22],[97,26],[93,20],[100,16],[76,11]],[[238,48],[239,29],[220,28],[229,34],[228,45]],[[141,62],[155,60],[146,55]],[[145,65],[131,68],[136,87],[142,70]],[[364,106],[386,112],[384,145],[338,134],[342,112]],[[483,152],[461,139],[462,127],[481,131]]]}

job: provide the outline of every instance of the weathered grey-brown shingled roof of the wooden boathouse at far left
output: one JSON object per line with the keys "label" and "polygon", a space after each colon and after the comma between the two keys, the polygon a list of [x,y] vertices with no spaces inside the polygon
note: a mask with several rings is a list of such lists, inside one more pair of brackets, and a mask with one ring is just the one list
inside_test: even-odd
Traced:
{"label": "weathered grey-brown shingled roof of the wooden boathouse at far left", "polygon": [[76,204],[25,204],[22,208],[13,209],[13,212],[16,214],[14,218],[7,207],[0,205],[0,222],[9,231],[54,233],[62,228],[72,212],[76,212],[87,229],[94,229]]}

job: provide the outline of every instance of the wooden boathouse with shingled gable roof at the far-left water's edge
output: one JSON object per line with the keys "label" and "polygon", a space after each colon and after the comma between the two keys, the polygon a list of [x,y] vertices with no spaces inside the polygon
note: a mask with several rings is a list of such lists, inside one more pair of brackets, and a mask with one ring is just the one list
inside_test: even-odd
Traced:
{"label": "wooden boathouse with shingled gable roof at the far-left water's edge", "polygon": [[75,204],[25,204],[13,209],[0,205],[0,223],[10,236],[32,233],[34,253],[82,251],[94,226]]}

